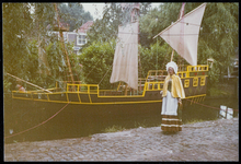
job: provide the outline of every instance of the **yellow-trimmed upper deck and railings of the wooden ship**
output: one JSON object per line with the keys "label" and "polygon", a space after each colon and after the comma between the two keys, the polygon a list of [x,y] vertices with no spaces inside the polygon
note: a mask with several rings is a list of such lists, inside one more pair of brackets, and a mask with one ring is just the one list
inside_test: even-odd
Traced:
{"label": "yellow-trimmed upper deck and railings of the wooden ship", "polygon": [[[205,96],[208,66],[187,66],[180,70],[181,71],[176,74],[182,80],[186,97]],[[146,79],[139,79],[138,90],[133,90],[128,86],[126,89],[126,85],[122,82],[119,82],[116,90],[100,90],[99,84],[83,84],[80,81],[76,81],[74,83],[58,81],[55,87],[47,90],[48,92],[42,90],[26,92],[12,91],[12,97],[47,102],[72,102],[74,99],[74,102],[79,103],[93,103],[93,101],[101,102],[101,98],[102,101],[113,98],[114,102],[117,101],[116,98],[124,98],[126,101],[126,97],[133,97],[133,99],[135,97],[137,98],[136,101],[150,101],[151,98],[148,98],[148,96],[151,96],[153,93],[158,94],[162,91],[167,75],[168,72],[165,70],[150,70]],[[72,99],[70,99],[70,97],[72,97]],[[157,98],[160,99],[161,97]],[[157,98],[152,96],[152,99],[157,101]]]}

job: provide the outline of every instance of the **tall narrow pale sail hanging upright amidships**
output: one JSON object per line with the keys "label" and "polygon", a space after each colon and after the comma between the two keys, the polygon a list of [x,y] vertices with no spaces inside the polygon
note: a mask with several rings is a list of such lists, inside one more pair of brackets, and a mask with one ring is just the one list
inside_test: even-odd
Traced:
{"label": "tall narrow pale sail hanging upright amidships", "polygon": [[118,27],[110,82],[118,81],[138,89],[138,22]]}

